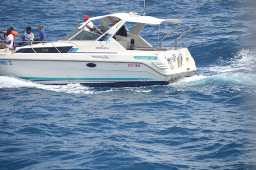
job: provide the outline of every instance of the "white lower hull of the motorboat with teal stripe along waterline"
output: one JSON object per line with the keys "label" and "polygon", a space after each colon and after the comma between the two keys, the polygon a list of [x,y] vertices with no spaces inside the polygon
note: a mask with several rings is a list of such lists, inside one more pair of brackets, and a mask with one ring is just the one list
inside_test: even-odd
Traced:
{"label": "white lower hull of the motorboat with teal stripe along waterline", "polygon": [[0,60],[0,73],[42,84],[124,87],[166,85],[178,77],[192,76],[195,71],[166,74],[142,62],[9,58]]}

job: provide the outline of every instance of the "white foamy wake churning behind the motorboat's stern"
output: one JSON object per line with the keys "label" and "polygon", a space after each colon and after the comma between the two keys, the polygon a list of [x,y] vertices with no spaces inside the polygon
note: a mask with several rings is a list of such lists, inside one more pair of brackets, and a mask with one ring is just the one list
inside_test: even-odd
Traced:
{"label": "white foamy wake churning behind the motorboat's stern", "polygon": [[218,58],[209,67],[198,68],[196,75],[184,77],[169,84],[181,88],[209,88],[209,86],[228,86],[235,89],[249,88],[256,92],[256,50],[242,49],[233,57]]}

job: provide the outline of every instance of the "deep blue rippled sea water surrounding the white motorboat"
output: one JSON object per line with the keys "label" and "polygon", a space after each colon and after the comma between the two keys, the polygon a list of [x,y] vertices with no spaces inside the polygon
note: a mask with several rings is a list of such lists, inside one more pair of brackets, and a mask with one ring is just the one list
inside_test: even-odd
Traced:
{"label": "deep blue rippled sea water surrounding the white motorboat", "polygon": [[[144,11],[143,0],[0,4],[0,30],[13,26],[17,37],[28,25],[63,37],[84,14]],[[0,170],[256,170],[255,9],[255,0],[146,0],[147,15],[195,26],[185,42],[198,71],[167,86],[0,76]],[[150,34],[141,32],[155,45]]]}

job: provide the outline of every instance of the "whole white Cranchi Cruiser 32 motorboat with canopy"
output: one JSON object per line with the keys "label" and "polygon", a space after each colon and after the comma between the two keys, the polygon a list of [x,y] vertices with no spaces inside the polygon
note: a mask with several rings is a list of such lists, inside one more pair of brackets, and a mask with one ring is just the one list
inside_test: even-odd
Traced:
{"label": "whole white Cranchi Cruiser 32 motorboat with canopy", "polygon": [[[120,21],[112,26],[107,16]],[[89,21],[94,24],[94,32],[83,29]],[[160,31],[162,22],[171,26],[180,24],[181,28],[180,20],[133,12],[92,17],[58,41],[17,47],[14,51],[0,49],[0,75],[42,84],[88,86],[166,85],[177,78],[193,76],[196,67],[192,56],[183,44],[177,45],[177,40],[193,27],[175,36],[173,45],[162,45],[162,40],[178,29],[175,27],[162,38],[159,33],[156,35],[157,46],[139,35],[143,28],[151,29],[154,25],[154,30]],[[115,33],[124,24],[132,26],[127,40],[115,40]],[[97,33],[98,30],[103,34]]]}

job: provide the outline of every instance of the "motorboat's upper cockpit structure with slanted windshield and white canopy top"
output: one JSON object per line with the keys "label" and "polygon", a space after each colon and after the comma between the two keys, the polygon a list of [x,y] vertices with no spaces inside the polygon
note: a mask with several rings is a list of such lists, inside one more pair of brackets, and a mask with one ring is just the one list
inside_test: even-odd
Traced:
{"label": "motorboat's upper cockpit structure with slanted windshield and white canopy top", "polygon": [[[112,19],[119,18],[120,20],[116,24],[112,25],[112,22],[108,17],[111,17]],[[94,25],[93,32],[84,30],[84,27],[89,22],[92,22]],[[133,12],[114,13],[89,18],[85,23],[67,34],[60,41],[116,41],[126,50],[157,51],[164,48],[159,47],[160,39],[158,31],[160,32],[161,22],[180,23],[181,25],[181,21],[177,19],[159,19],[151,16],[139,16]],[[126,40],[116,40],[114,35],[124,24],[127,30],[127,38]],[[157,36],[155,37],[155,40],[157,40],[157,47],[153,47],[139,35],[146,24],[159,25],[159,30],[157,30],[157,26],[154,27],[156,30],[153,30],[154,34],[158,35],[158,40],[156,39]],[[127,28],[131,28],[131,30],[128,30]],[[177,28],[175,30],[177,30]],[[100,31],[102,31],[102,34]],[[169,34],[167,34],[167,36]],[[174,48],[174,45],[172,45],[172,47]],[[165,50],[167,50],[167,47],[165,47]]]}

